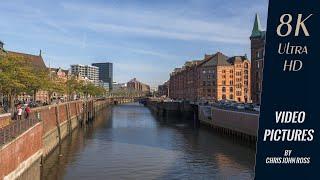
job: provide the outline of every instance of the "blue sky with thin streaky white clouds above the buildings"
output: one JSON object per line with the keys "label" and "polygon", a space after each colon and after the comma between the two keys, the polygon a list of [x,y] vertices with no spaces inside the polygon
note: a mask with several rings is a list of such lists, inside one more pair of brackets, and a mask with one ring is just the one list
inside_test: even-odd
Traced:
{"label": "blue sky with thin streaky white clouds above the buildings", "polygon": [[255,13],[267,0],[1,0],[5,49],[42,56],[49,67],[112,62],[114,81],[155,87],[185,61],[217,51],[250,57]]}

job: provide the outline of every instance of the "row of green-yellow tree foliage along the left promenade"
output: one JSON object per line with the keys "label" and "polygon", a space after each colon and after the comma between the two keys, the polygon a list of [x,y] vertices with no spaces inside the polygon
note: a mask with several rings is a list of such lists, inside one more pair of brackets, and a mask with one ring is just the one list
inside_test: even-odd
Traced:
{"label": "row of green-yellow tree foliage along the left promenade", "polygon": [[39,90],[47,91],[50,100],[54,92],[67,93],[69,100],[72,100],[73,95],[87,98],[106,94],[104,88],[79,80],[75,76],[62,81],[48,69],[32,66],[30,59],[24,56],[0,53],[0,92],[8,97],[10,108],[14,107],[14,100],[22,93],[32,95],[36,101]]}

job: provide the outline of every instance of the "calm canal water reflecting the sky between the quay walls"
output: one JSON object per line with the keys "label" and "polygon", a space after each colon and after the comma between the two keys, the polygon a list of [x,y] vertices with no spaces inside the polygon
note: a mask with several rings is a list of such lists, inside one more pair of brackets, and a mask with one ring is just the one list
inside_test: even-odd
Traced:
{"label": "calm canal water reflecting the sky between the quay walls", "polygon": [[43,180],[253,179],[255,150],[136,103],[102,111],[48,156]]}

